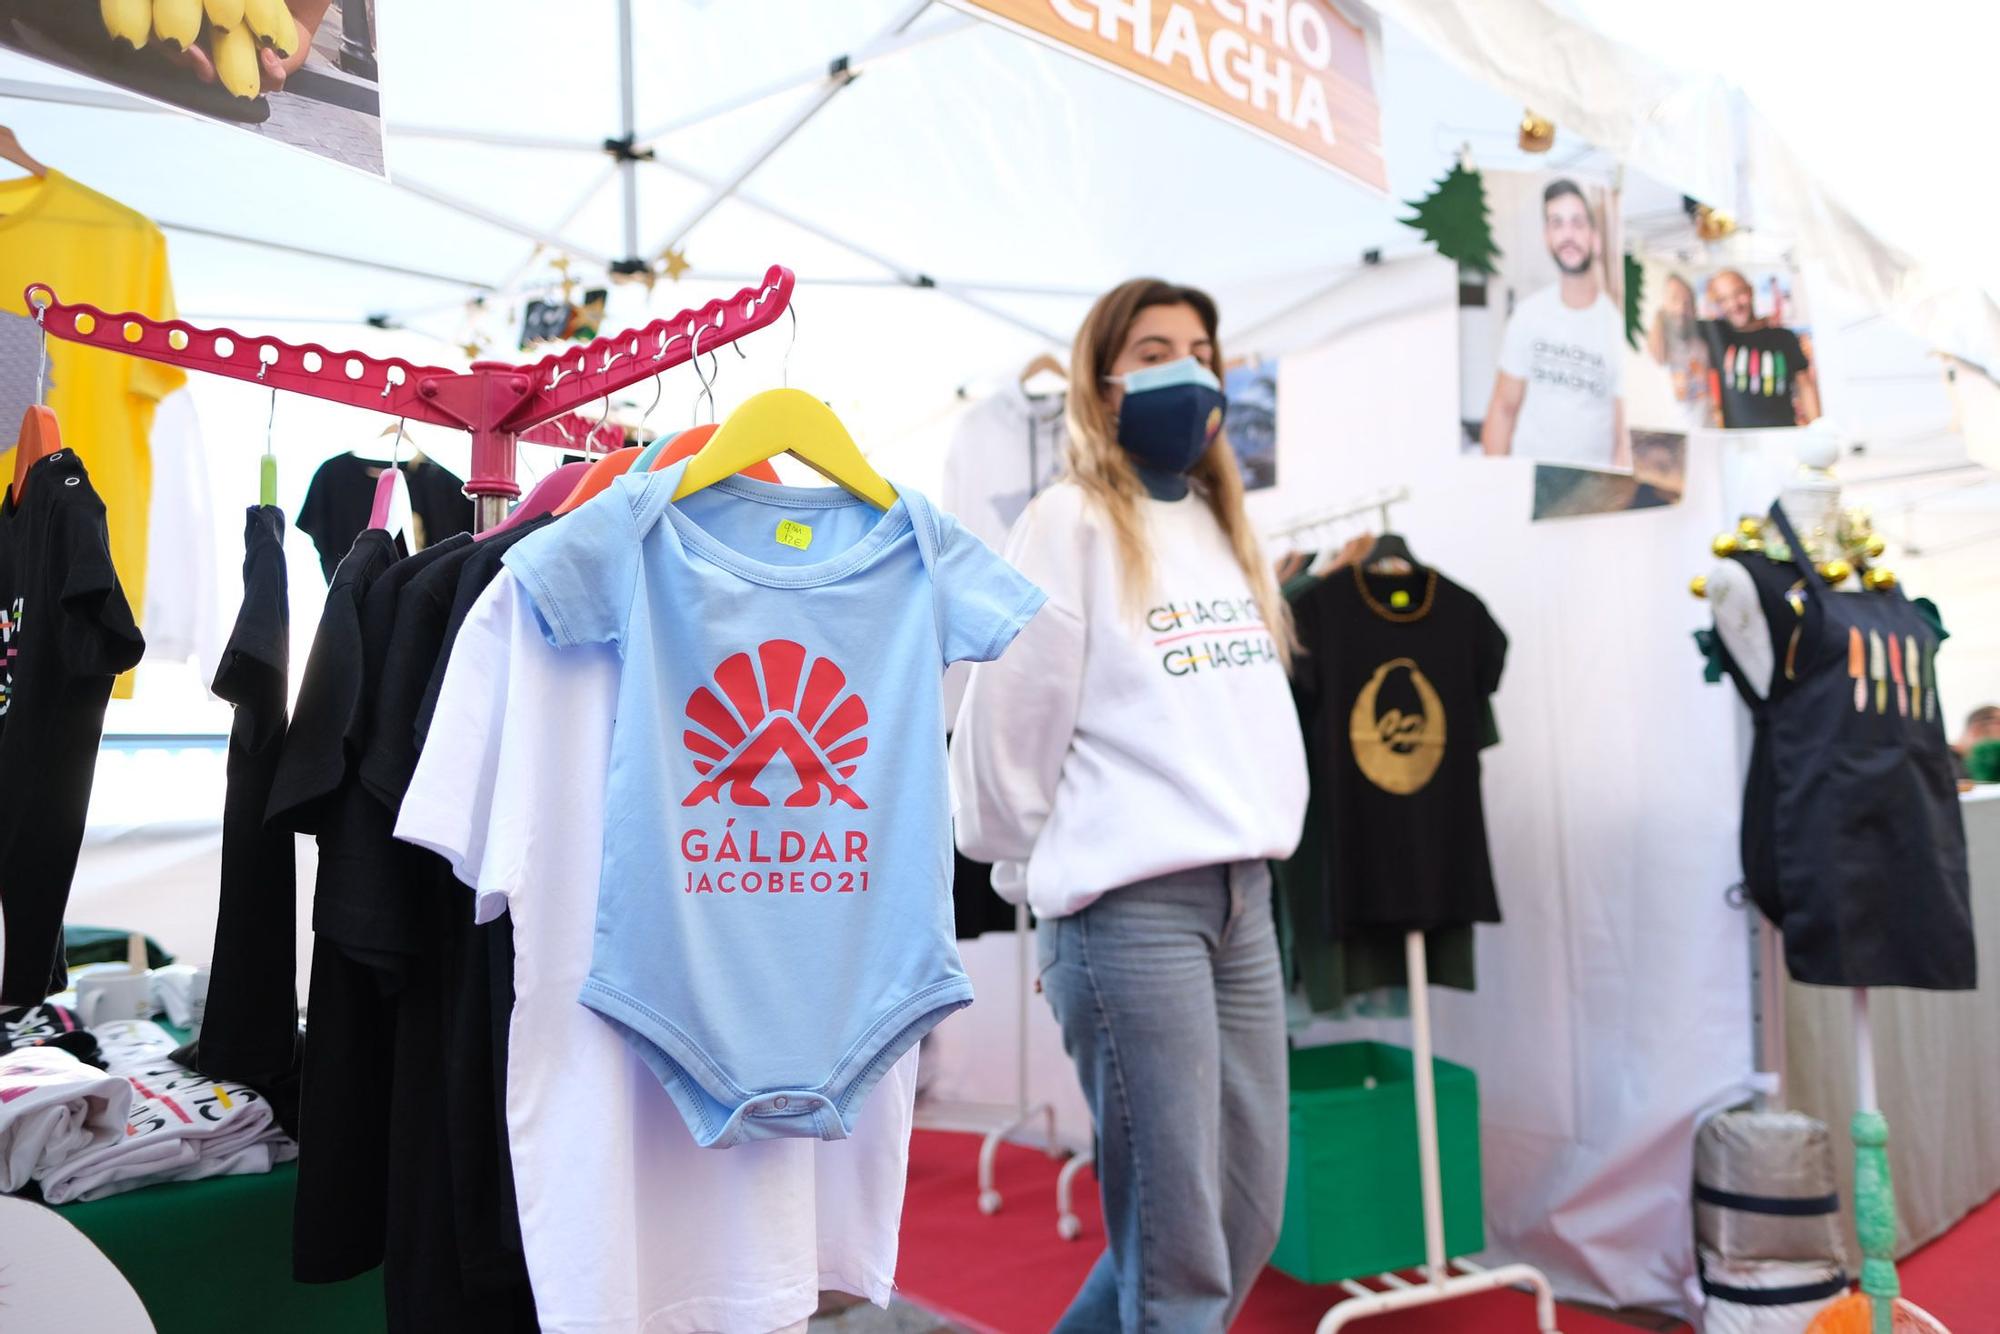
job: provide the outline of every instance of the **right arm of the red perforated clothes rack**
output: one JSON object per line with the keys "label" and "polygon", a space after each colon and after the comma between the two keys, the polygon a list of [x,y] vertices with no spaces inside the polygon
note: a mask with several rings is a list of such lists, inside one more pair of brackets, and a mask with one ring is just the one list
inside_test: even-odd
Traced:
{"label": "right arm of the red perforated clothes rack", "polygon": [[772,324],[792,304],[798,278],[772,264],[764,282],[700,306],[682,310],[622,334],[598,338],[580,348],[550,352],[520,370],[534,380],[528,396],[502,420],[506,430],[526,430],[534,422],[596,402],[606,394],[650,380],[694,360],[694,348],[714,352]]}

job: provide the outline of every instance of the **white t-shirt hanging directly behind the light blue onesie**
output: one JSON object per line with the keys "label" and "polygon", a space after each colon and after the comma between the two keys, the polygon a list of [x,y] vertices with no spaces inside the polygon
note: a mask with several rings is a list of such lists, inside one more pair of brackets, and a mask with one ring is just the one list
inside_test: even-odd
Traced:
{"label": "white t-shirt hanging directly behind the light blue onesie", "polygon": [[[888,1304],[916,1052],[854,1134],[696,1148],[590,970],[618,650],[554,648],[502,572],[466,616],[396,836],[514,918],[508,1144],[550,1334],[766,1334],[822,1288]],[[774,1020],[778,1016],[774,1014]]]}

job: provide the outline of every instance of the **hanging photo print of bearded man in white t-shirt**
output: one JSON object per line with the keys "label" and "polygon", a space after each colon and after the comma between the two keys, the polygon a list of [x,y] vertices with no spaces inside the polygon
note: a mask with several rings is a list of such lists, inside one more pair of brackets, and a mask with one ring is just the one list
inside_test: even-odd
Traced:
{"label": "hanging photo print of bearded man in white t-shirt", "polygon": [[1460,300],[1464,450],[1628,472],[1618,196],[1558,172],[1484,172],[1494,274]]}

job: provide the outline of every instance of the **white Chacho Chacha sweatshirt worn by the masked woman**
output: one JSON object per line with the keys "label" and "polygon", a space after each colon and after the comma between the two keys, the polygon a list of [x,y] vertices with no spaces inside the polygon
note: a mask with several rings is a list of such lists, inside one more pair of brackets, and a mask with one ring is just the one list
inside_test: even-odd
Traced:
{"label": "white Chacho Chacha sweatshirt worn by the masked woman", "polygon": [[1154,594],[1128,614],[1110,524],[1072,482],[1006,556],[1048,604],[974,668],[952,736],[958,846],[1056,918],[1190,866],[1290,856],[1306,814],[1298,712],[1208,506],[1146,500]]}

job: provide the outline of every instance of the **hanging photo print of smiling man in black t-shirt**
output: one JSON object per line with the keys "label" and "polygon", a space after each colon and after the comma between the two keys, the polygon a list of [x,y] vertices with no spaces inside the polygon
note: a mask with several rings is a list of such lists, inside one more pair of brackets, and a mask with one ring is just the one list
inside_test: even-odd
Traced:
{"label": "hanging photo print of smiling man in black t-shirt", "polygon": [[1776,264],[1648,264],[1646,356],[1688,426],[1806,426],[1820,416],[1798,276]]}

